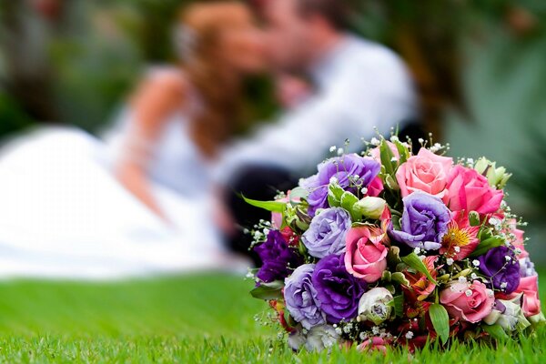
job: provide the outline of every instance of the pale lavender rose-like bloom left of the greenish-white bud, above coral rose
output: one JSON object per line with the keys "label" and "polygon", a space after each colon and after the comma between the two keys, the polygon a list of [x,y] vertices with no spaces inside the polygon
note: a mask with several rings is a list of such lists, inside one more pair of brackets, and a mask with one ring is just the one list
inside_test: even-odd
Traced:
{"label": "pale lavender rose-like bloom left of the greenish-white bud, above coral rose", "polygon": [[345,237],[350,229],[349,212],[340,207],[327,208],[313,217],[301,241],[316,258],[345,251]]}

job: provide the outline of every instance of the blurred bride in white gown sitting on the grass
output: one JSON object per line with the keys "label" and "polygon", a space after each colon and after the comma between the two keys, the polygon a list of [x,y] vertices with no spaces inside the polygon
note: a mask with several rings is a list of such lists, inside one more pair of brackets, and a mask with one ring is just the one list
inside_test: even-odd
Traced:
{"label": "blurred bride in white gown sitting on the grass", "polygon": [[245,262],[211,222],[210,170],[261,70],[248,8],[193,5],[180,67],[150,71],[101,138],[39,130],[0,156],[0,277],[116,278]]}

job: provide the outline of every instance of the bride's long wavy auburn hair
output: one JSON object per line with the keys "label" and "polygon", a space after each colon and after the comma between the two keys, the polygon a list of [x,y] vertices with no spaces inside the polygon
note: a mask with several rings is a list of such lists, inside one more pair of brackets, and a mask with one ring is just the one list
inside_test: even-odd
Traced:
{"label": "bride's long wavy auburn hair", "polygon": [[248,11],[245,5],[218,1],[190,5],[180,17],[177,46],[182,67],[203,104],[190,133],[207,157],[217,156],[240,122],[241,76],[229,69],[220,45],[223,32],[248,19]]}

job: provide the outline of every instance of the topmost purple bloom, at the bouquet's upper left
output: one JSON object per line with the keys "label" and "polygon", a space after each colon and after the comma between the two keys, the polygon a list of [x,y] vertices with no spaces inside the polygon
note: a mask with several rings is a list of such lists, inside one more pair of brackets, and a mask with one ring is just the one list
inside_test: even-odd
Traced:
{"label": "topmost purple bloom, at the bouquet's upper left", "polygon": [[379,175],[380,170],[381,165],[375,160],[360,157],[354,153],[330,158],[319,164],[319,173],[304,179],[301,183],[301,187],[305,187],[309,191],[309,216],[314,216],[319,208],[328,207],[328,186],[332,177],[335,177],[339,186],[346,191],[356,192],[355,185],[360,188],[368,187],[371,181]]}

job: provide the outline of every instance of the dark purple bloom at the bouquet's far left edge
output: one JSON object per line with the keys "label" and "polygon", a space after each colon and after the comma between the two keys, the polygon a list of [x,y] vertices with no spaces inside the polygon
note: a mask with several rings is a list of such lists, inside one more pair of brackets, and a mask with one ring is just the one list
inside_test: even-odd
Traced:
{"label": "dark purple bloom at the bouquet's far left edge", "polygon": [[290,272],[301,264],[301,258],[293,248],[288,246],[280,231],[271,230],[268,239],[254,248],[263,265],[256,275],[261,281],[269,283],[283,280]]}

